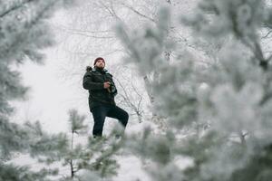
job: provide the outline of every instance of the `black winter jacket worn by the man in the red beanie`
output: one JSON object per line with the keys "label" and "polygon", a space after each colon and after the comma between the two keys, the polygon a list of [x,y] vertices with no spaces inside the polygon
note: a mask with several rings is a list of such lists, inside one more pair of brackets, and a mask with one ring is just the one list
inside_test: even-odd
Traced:
{"label": "black winter jacket worn by the man in the red beanie", "polygon": [[[105,81],[111,82],[109,90],[103,88]],[[89,90],[89,108],[98,105],[116,105],[114,96],[117,94],[115,84],[112,80],[112,74],[106,69],[93,68],[86,71],[83,77],[83,88]]]}

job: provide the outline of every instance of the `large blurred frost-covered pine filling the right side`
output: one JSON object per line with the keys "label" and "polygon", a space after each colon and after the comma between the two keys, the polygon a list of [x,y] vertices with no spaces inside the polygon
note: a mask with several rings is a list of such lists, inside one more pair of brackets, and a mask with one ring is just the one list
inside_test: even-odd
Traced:
{"label": "large blurred frost-covered pine filling the right side", "polygon": [[[208,59],[205,66],[166,39],[167,8],[160,11],[155,28],[130,33],[118,27],[130,51],[128,60],[138,65],[141,75],[160,72],[151,86],[156,110],[170,129],[160,137],[147,129],[129,142],[135,153],[155,163],[148,169],[153,180],[271,179],[272,56],[262,38],[271,31],[271,17],[267,1],[200,1],[182,24],[192,28],[196,39],[219,44],[216,62]],[[167,50],[176,54],[172,64],[164,61]],[[201,124],[208,125],[201,134],[179,138],[180,130]],[[186,169],[180,168],[183,156],[192,161]]]}

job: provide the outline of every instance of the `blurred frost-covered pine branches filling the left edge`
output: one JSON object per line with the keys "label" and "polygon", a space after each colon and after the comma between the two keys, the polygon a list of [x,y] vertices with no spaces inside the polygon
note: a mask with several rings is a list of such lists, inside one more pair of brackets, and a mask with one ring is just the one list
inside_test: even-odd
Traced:
{"label": "blurred frost-covered pine branches filling the left edge", "polygon": [[57,7],[68,5],[65,0],[11,0],[0,1],[0,180],[48,180],[47,175],[56,170],[30,171],[7,163],[15,153],[27,153],[31,157],[56,157],[56,150],[66,145],[63,134],[49,135],[41,125],[18,125],[10,120],[14,108],[10,100],[24,98],[28,88],[21,82],[16,66],[26,59],[42,62],[43,48],[53,45],[46,20]]}

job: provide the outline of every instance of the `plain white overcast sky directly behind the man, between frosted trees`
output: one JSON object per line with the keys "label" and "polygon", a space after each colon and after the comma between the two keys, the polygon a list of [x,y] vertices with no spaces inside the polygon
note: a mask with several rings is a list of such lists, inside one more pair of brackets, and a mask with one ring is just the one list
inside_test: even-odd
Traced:
{"label": "plain white overcast sky directly behind the man, between frosted trees", "polygon": [[[19,71],[22,72],[23,83],[25,86],[30,87],[30,90],[27,94],[27,100],[16,100],[14,102],[16,113],[13,120],[17,123],[24,123],[26,120],[39,120],[46,131],[53,133],[67,132],[69,130],[68,110],[76,109],[79,110],[80,114],[87,116],[86,123],[90,126],[89,131],[91,134],[92,113],[88,105],[89,93],[83,89],[82,79],[85,66],[92,63],[92,59],[86,57],[85,64],[71,60],[73,57],[71,57],[70,50],[66,50],[67,46],[63,45],[63,40],[70,37],[68,35],[66,37],[62,28],[58,28],[68,26],[67,22],[69,21],[67,21],[67,18],[69,16],[65,13],[67,12],[59,11],[50,21],[53,24],[53,31],[56,33],[55,39],[59,43],[44,50],[44,65],[26,61],[19,67]],[[73,43],[71,39],[69,42]],[[72,44],[68,46],[70,49]],[[97,54],[97,56],[100,56],[100,54]],[[116,71],[114,66],[116,62],[121,61],[120,57],[121,55],[118,55],[118,57],[116,55],[105,57],[106,69],[111,71],[113,76],[114,71]],[[120,95],[117,95],[117,99],[118,96]],[[121,106],[121,108],[123,107]],[[108,121],[108,119],[106,119],[104,126],[105,133],[111,129],[109,124],[116,122],[116,120]],[[137,120],[134,122],[137,123]]]}

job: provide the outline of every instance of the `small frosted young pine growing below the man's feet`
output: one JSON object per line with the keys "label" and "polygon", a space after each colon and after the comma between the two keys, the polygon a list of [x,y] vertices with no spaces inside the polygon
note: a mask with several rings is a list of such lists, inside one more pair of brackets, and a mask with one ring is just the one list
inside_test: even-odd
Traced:
{"label": "small frosted young pine growing below the man's feet", "polygon": [[[70,144],[60,150],[60,157],[54,157],[51,162],[61,161],[63,167],[69,167],[71,174],[65,176],[64,180],[81,180],[90,176],[110,179],[117,174],[119,165],[113,157],[120,150],[122,141],[114,138],[117,131],[115,129],[107,138],[89,137],[84,120],[85,116],[80,115],[77,110],[69,110]],[[80,174],[83,171],[85,173]]]}

